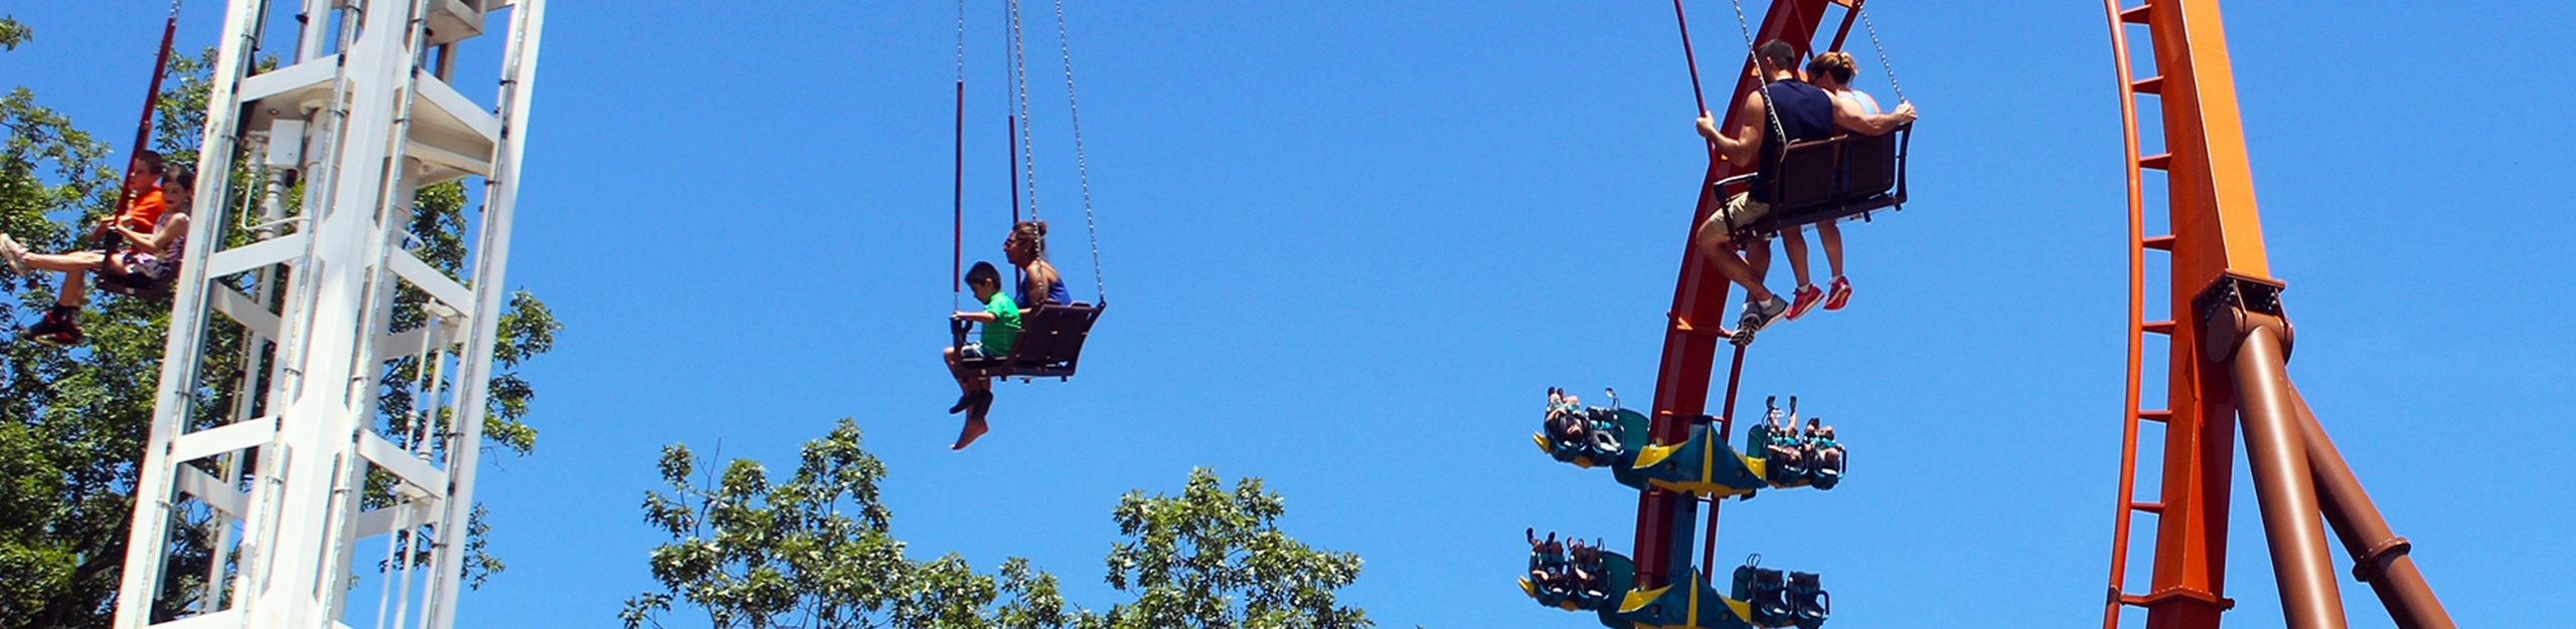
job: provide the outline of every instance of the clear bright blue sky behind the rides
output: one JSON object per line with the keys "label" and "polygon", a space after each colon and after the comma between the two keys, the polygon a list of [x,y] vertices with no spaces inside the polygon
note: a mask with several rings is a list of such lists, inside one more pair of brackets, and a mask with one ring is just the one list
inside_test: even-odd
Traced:
{"label": "clear bright blue sky behind the rides", "polygon": [[[1030,557],[1092,608],[1123,601],[1100,583],[1115,498],[1206,465],[1363,555],[1345,601],[1386,626],[1589,626],[1517,593],[1520,529],[1625,547],[1636,501],[1528,431],[1546,385],[1654,385],[1705,164],[1669,5],[1074,0],[1113,311],[1077,383],[1002,388],[969,452],[945,449],[933,365],[956,8],[726,5],[551,8],[510,282],[567,331],[531,367],[536,454],[482,478],[510,570],[464,626],[616,624],[652,585],[659,447],[786,470],[842,416],[917,557]],[[969,254],[997,259],[999,3],[974,5]],[[13,3],[36,41],[0,85],[121,136],[162,8]],[[1092,298],[1030,8],[1041,211]],[[1728,8],[1690,8],[1703,62],[1739,64]],[[219,13],[191,3],[183,44]],[[1821,570],[1834,626],[2089,626],[2125,308],[2102,5],[1873,18],[1924,110],[1914,203],[1847,228],[1852,308],[1765,334],[1744,377],[1839,424],[1852,478],[1731,503],[1718,555]],[[2568,23],[2558,3],[2226,13],[2293,377],[2463,626],[2576,614]],[[1875,72],[1860,87],[1891,100]],[[2241,626],[2277,624],[2259,529],[2239,480]],[[2354,626],[2388,626],[2344,593]]]}

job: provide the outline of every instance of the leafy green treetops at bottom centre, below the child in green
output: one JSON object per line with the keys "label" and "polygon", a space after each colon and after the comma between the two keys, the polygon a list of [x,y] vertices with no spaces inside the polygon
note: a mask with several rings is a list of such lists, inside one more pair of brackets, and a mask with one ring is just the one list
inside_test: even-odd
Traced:
{"label": "leafy green treetops at bottom centre, below the child in green", "polygon": [[1108,557],[1108,583],[1136,596],[1108,614],[1069,608],[1054,575],[1005,560],[997,575],[966,560],[904,557],[878,498],[886,465],[860,447],[858,424],[806,442],[783,483],[752,460],[721,470],[685,444],[662,449],[670,493],[644,493],[644,521],[672,537],[652,549],[662,590],[626,601],[629,629],[662,626],[685,603],[711,626],[1370,626],[1334,590],[1360,557],[1298,544],[1278,529],[1285,501],[1257,478],[1224,490],[1193,470],[1180,495],[1128,493]]}

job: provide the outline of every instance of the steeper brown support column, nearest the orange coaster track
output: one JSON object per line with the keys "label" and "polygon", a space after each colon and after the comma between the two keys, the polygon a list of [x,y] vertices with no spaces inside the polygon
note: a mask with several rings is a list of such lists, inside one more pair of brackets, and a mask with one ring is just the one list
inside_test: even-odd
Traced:
{"label": "steeper brown support column, nearest the orange coaster track", "polygon": [[[2272,318],[2277,321],[2277,318]],[[2262,503],[2272,578],[2280,580],[2280,616],[2290,629],[2344,629],[2344,601],[2326,555],[2326,526],[2316,519],[2306,431],[2285,375],[2277,326],[2249,326],[2236,347],[2236,395],[2244,401],[2246,465]],[[2213,334],[2215,331],[2213,326]]]}

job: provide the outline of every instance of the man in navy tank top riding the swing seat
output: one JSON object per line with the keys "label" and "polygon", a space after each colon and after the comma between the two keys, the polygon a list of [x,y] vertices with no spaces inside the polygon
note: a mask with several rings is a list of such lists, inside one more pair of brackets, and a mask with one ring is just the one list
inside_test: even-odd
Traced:
{"label": "man in navy tank top riding the swing seat", "polygon": [[[1798,80],[1798,49],[1777,39],[1762,41],[1754,49],[1754,64],[1765,85],[1744,98],[1731,134],[1718,134],[1718,123],[1705,110],[1700,113],[1700,136],[1716,144],[1726,162],[1754,164],[1752,190],[1728,195],[1726,205],[1710,213],[1692,236],[1700,257],[1708,257],[1726,280],[1744,285],[1747,303],[1744,318],[1736,323],[1739,331],[1759,331],[1780,321],[1788,316],[1788,300],[1762,288],[1762,275],[1770,270],[1770,239],[1757,236],[1752,244],[1739,246],[1744,254],[1736,257],[1736,252],[1728,252],[1734,231],[1770,213],[1770,169],[1780,162],[1783,146],[1834,136],[1834,98]],[[1703,195],[1716,193],[1703,190]]]}

